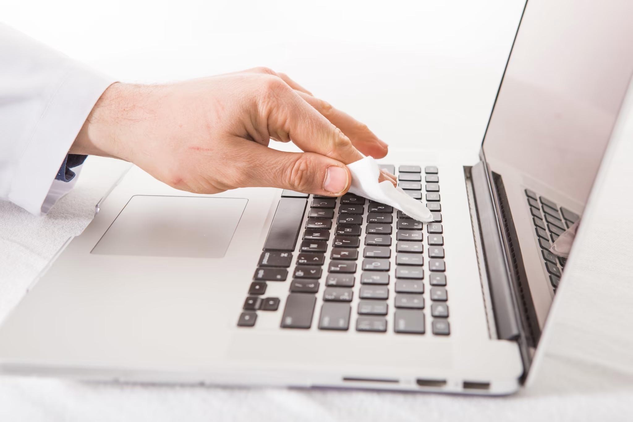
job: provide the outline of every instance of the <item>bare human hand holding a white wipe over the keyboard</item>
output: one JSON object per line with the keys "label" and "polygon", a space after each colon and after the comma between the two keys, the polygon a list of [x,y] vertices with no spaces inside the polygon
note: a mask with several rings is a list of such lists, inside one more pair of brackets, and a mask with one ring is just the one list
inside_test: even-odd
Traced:
{"label": "bare human hand holding a white wipe over the keyboard", "polygon": [[[292,141],[304,152],[268,148]],[[70,152],[125,159],[177,189],[215,194],[279,187],[342,195],[345,164],[382,158],[367,126],[282,73],[256,68],[169,85],[113,84]],[[383,172],[382,180],[396,183]]]}

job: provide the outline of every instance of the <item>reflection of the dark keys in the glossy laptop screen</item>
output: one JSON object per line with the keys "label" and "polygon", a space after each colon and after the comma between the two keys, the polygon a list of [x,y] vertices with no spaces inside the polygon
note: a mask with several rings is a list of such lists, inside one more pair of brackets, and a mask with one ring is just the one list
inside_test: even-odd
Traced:
{"label": "reflection of the dark keys in the glossy laptop screen", "polygon": [[579,220],[580,216],[565,207],[559,208],[555,202],[542,195],[537,195],[530,189],[525,189],[525,196],[532,214],[536,237],[541,247],[541,259],[548,271],[549,282],[556,292],[567,259],[549,252],[549,248],[552,242],[555,242],[565,230]]}

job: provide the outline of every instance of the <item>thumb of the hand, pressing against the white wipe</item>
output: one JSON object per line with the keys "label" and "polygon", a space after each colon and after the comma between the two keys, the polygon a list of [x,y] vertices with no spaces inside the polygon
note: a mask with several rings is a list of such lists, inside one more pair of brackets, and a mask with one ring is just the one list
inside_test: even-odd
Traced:
{"label": "thumb of the hand, pressing against the white wipe", "polygon": [[[251,173],[250,186],[279,187],[306,194],[340,196],[351,185],[351,173],[341,161],[315,152],[283,152],[251,143],[260,171]],[[249,154],[250,155],[250,154]],[[251,164],[252,165],[252,164]]]}

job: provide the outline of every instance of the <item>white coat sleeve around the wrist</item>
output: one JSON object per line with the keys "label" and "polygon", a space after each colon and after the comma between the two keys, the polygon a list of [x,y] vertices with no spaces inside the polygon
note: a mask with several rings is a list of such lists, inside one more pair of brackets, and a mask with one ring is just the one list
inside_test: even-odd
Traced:
{"label": "white coat sleeve around the wrist", "polygon": [[113,82],[0,23],[0,200],[41,214],[72,189],[53,181]]}

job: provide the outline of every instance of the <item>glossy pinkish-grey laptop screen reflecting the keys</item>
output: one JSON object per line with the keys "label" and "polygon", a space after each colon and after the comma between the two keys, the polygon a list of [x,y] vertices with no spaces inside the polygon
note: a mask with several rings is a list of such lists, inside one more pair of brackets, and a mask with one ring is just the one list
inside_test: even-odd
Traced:
{"label": "glossy pinkish-grey laptop screen reflecting the keys", "polygon": [[560,280],[542,249],[582,218],[633,71],[631,16],[630,0],[529,0],[484,136],[541,327]]}

